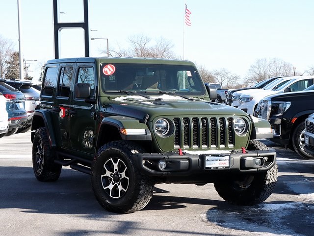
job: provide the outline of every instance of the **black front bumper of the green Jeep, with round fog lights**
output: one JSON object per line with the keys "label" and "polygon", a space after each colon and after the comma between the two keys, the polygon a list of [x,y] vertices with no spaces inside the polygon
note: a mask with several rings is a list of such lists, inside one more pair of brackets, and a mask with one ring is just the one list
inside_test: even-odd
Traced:
{"label": "black front bumper of the green Jeep, with round fog lights", "polygon": [[[207,169],[205,168],[206,155],[182,154],[176,152],[168,153],[144,153],[135,154],[136,165],[146,175],[152,177],[181,177],[189,178],[192,175],[217,175],[226,173],[245,173],[267,171],[276,161],[276,152],[269,151],[233,151],[230,153],[229,167]],[[254,167],[251,163],[256,158],[262,158],[263,164]],[[167,167],[160,169],[158,163],[165,161]]]}

